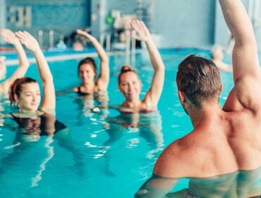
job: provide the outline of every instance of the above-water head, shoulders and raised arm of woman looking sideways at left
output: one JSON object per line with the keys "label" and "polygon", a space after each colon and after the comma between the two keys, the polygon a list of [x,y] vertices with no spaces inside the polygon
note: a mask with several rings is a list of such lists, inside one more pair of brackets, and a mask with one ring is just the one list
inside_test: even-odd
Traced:
{"label": "above-water head, shoulders and raised arm of woman looking sideways at left", "polygon": [[[12,104],[19,107],[19,112],[13,113],[13,117],[38,117],[45,113],[54,114],[55,91],[54,81],[40,45],[32,35],[27,32],[18,32],[16,37],[35,55],[37,67],[43,83],[43,98],[41,98],[40,86],[32,78],[18,78],[11,86],[9,99]],[[42,99],[42,105],[40,102]],[[40,108],[39,108],[40,106]]]}

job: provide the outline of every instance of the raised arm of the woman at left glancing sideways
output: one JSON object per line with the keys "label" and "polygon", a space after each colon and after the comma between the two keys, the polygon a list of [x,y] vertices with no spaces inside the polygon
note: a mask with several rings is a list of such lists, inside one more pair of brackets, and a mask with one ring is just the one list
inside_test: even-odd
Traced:
{"label": "raised arm of the woman at left glancing sideways", "polygon": [[28,50],[32,50],[35,54],[38,70],[44,86],[44,98],[40,110],[52,113],[56,107],[54,81],[40,45],[37,40],[35,40],[35,37],[32,37],[28,32],[19,31],[16,33],[16,36],[19,38],[20,42],[28,48]]}

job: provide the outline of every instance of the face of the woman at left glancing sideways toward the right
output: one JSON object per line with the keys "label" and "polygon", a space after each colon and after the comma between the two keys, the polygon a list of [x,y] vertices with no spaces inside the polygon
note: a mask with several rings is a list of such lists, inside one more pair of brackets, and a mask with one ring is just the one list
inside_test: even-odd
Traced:
{"label": "face of the woman at left glancing sideways toward the right", "polygon": [[25,83],[20,95],[16,95],[20,111],[36,112],[41,102],[41,93],[38,83]]}

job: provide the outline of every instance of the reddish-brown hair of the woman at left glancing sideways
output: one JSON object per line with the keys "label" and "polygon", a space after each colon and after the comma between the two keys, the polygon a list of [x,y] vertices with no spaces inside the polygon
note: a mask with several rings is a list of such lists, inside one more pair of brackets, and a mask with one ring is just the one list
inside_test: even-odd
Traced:
{"label": "reddish-brown hair of the woman at left glancing sideways", "polygon": [[16,104],[15,95],[20,97],[22,86],[27,83],[37,83],[37,81],[33,78],[17,78],[16,81],[13,82],[9,91],[9,100],[11,101],[11,105]]}

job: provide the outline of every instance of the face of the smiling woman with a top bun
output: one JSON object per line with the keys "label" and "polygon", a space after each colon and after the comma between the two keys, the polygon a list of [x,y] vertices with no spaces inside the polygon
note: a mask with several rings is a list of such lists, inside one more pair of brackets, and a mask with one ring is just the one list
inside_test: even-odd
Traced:
{"label": "face of the smiling woman with a top bun", "polygon": [[133,71],[121,74],[119,89],[128,101],[140,99],[141,82],[137,74]]}

